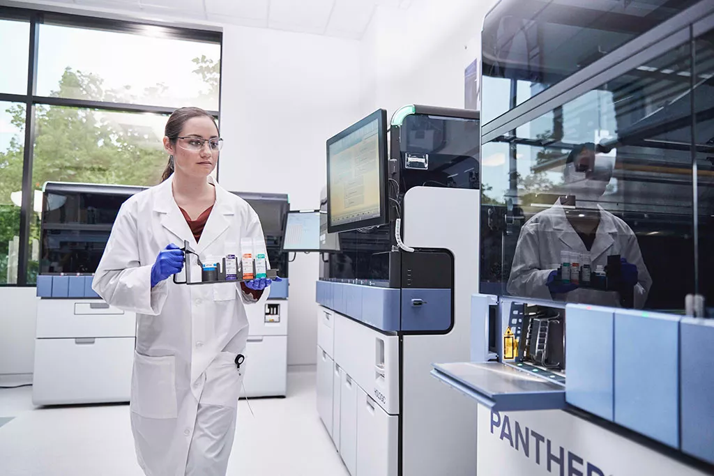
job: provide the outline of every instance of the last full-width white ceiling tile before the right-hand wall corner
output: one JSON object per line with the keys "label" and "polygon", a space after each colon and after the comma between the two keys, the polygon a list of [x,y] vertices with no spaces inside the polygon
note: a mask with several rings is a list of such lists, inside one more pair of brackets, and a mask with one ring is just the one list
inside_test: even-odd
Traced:
{"label": "last full-width white ceiling tile before the right-hand wall corner", "polygon": [[271,0],[271,28],[321,34],[327,28],[335,0]]}

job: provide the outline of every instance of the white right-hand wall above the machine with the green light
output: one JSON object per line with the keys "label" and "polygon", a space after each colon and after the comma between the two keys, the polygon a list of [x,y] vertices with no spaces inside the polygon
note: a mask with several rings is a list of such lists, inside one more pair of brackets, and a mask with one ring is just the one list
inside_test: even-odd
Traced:
{"label": "white right-hand wall above the machine with the green light", "polygon": [[[407,104],[463,108],[464,69],[476,59],[494,0],[414,0],[380,6],[361,44],[361,112]],[[468,48],[467,48],[468,46]]]}

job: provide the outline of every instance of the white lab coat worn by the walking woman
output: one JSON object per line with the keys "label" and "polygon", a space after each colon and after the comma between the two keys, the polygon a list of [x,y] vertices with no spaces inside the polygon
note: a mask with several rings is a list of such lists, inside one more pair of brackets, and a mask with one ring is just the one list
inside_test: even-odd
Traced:
{"label": "white lab coat worn by the walking woman", "polygon": [[[129,198],[114,222],[92,288],[136,313],[131,428],[147,476],[224,475],[233,445],[252,301],[238,283],[151,288],[151,266],[169,243],[203,256],[240,256],[241,238],[263,240],[243,199],[216,186],[216,203],[198,243],[179,210],[171,178]],[[183,272],[181,273],[183,274]],[[200,276],[194,265],[193,276]],[[266,290],[266,293],[268,290]]]}

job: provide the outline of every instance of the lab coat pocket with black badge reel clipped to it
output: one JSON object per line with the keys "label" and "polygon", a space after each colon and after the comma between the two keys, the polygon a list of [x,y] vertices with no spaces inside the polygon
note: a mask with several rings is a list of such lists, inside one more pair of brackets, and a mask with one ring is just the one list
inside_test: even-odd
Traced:
{"label": "lab coat pocket with black badge reel clipped to it", "polygon": [[238,407],[238,397],[241,396],[247,359],[243,360],[238,368],[236,365],[237,355],[234,352],[221,352],[216,355],[216,359],[206,369],[206,389],[201,395],[201,403],[221,407]]}

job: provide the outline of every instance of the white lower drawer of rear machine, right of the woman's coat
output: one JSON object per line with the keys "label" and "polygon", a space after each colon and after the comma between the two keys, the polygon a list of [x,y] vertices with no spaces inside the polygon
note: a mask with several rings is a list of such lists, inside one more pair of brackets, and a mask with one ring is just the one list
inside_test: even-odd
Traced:
{"label": "white lower drawer of rear machine, right of the woman's coat", "polygon": [[284,396],[288,387],[288,336],[248,337],[241,397]]}

